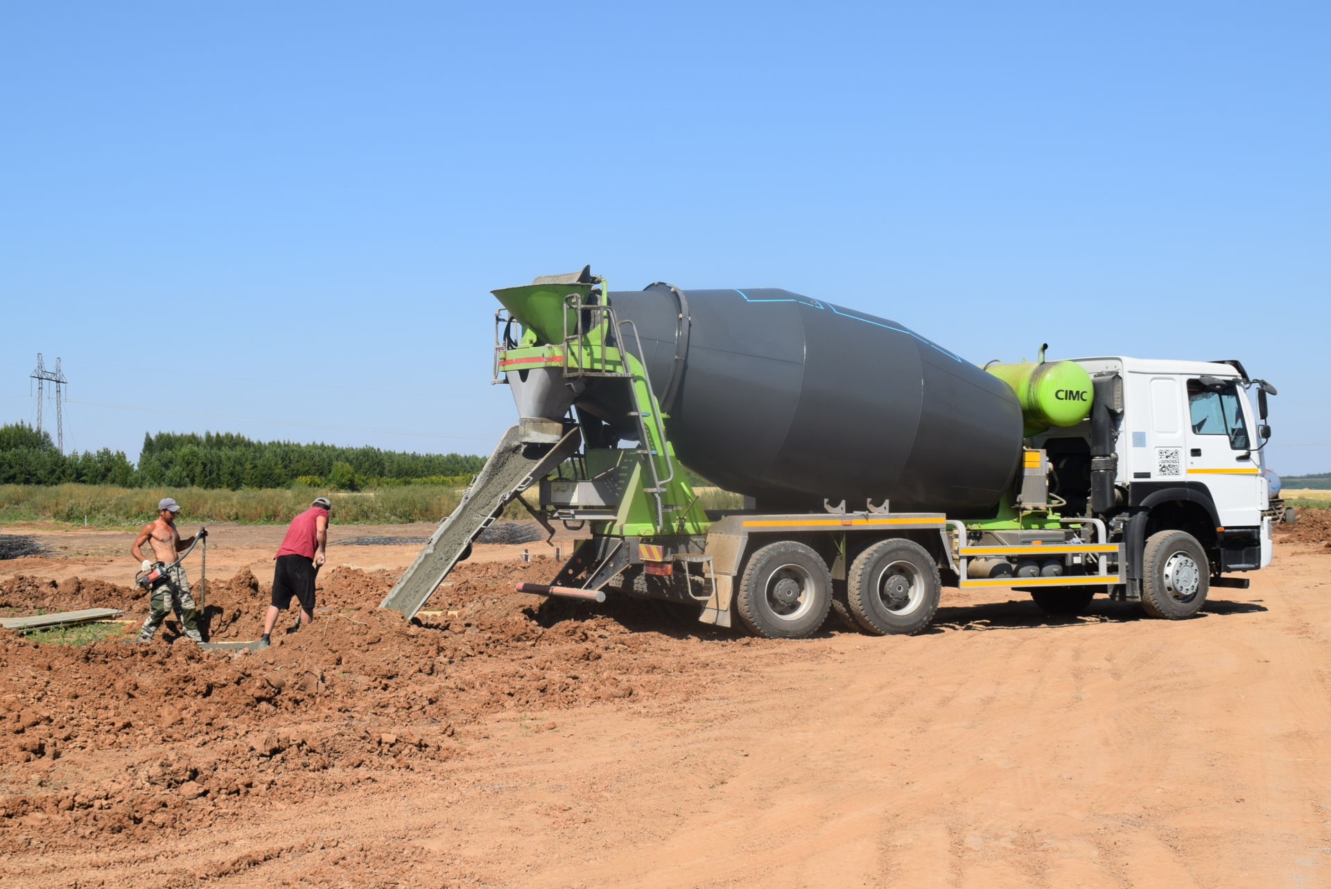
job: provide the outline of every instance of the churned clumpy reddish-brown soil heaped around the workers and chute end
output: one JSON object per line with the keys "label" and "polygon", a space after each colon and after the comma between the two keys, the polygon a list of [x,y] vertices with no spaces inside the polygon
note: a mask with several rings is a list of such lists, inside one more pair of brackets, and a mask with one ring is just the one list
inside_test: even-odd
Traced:
{"label": "churned clumpy reddish-brown soil heaped around the workers and chute end", "polygon": [[[254,652],[169,644],[172,633],[84,648],[0,633],[0,775],[27,776],[0,793],[0,854],[17,848],[13,828],[29,840],[112,842],[212,824],[257,793],[303,799],[447,760],[463,752],[459,732],[508,708],[696,688],[687,672],[696,651],[634,632],[640,610],[620,620],[514,592],[556,570],[552,559],[461,566],[431,612],[409,622],[377,607],[394,582],[387,572],[335,568],[319,578],[327,611]],[[268,595],[253,574],[210,583],[206,596],[213,639],[257,637]],[[36,578],[0,584],[0,602],[146,607],[134,588]],[[65,757],[80,763],[77,784],[48,780]]]}

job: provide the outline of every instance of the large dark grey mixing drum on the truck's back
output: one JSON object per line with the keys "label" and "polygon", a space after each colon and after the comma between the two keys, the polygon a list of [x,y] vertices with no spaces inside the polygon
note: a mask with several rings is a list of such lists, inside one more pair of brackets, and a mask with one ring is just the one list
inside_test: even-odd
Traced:
{"label": "large dark grey mixing drum on the truck's back", "polygon": [[[611,291],[679,459],[764,511],[990,514],[1021,459],[1008,383],[884,318],[788,290]],[[636,335],[635,335],[636,334]],[[620,381],[579,411],[632,437]]]}

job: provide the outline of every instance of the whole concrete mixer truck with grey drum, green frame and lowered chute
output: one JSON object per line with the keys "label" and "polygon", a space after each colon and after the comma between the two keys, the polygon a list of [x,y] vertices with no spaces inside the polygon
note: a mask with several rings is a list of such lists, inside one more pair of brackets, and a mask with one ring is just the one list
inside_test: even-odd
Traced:
{"label": "whole concrete mixer truck with grey drum, green frame and lowered chute", "polygon": [[[868,633],[920,632],[944,584],[1183,619],[1271,560],[1275,389],[1238,361],[980,367],[819,298],[611,291],[590,267],[494,295],[519,422],[383,600],[409,616],[514,499],[590,530],[523,591],[765,637],[816,632],[833,602]],[[744,508],[705,511],[684,466]]]}

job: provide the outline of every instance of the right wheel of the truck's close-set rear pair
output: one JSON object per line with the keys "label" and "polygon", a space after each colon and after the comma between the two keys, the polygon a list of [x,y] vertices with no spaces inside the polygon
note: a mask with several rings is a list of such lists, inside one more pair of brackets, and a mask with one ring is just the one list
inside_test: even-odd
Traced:
{"label": "right wheel of the truck's close-set rear pair", "polygon": [[845,586],[856,623],[874,636],[920,632],[942,592],[933,556],[901,539],[881,540],[856,556]]}

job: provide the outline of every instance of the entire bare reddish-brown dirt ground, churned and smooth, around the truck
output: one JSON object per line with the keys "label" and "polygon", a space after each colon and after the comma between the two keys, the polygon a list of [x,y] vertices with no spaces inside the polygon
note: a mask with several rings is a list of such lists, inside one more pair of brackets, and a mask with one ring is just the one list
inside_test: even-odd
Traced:
{"label": "entire bare reddish-brown dirt ground, churned and smooth, around the truck", "polygon": [[[767,641],[512,592],[556,566],[522,544],[413,624],[374,606],[417,547],[334,546],[264,651],[0,632],[3,884],[1328,886],[1331,518],[1290,531],[1178,623],[946,590],[920,636]],[[146,614],[124,531],[5,532],[55,555],[0,562],[3,614]],[[281,532],[216,530],[214,639]]]}

